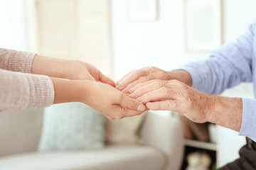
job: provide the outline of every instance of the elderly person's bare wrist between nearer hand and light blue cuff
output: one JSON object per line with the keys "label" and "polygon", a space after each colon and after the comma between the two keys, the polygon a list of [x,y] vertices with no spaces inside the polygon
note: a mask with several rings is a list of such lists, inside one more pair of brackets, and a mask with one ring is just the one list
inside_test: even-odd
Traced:
{"label": "elderly person's bare wrist between nearer hand and light blue cuff", "polygon": [[212,108],[209,108],[211,111],[208,121],[239,131],[242,125],[242,98],[209,96]]}

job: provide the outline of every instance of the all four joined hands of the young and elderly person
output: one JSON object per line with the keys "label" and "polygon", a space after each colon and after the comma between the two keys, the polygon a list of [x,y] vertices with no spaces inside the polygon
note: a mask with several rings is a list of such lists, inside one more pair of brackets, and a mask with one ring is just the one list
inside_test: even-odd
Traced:
{"label": "all four joined hands of the young and elderly person", "polygon": [[140,115],[151,109],[176,111],[203,123],[213,108],[210,95],[191,88],[191,76],[184,70],[166,72],[145,67],[129,72],[115,84],[86,62],[37,56],[32,73],[52,77],[54,103],[82,102],[109,119]]}

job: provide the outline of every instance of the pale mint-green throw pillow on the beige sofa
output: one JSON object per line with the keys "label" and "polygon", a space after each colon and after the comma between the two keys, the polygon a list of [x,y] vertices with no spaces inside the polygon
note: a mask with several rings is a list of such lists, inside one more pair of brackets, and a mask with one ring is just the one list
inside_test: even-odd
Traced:
{"label": "pale mint-green throw pillow on the beige sofa", "polygon": [[101,149],[105,117],[83,103],[61,103],[44,111],[39,151]]}

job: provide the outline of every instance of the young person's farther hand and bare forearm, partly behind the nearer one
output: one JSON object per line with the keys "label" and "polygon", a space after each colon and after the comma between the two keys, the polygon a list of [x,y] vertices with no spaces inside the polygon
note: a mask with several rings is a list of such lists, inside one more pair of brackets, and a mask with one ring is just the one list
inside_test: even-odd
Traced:
{"label": "young person's farther hand and bare forearm, partly behind the nearer one", "polygon": [[71,80],[100,81],[114,86],[114,81],[102,74],[92,64],[76,60],[60,60],[36,55],[32,64],[32,74],[43,74],[48,77]]}

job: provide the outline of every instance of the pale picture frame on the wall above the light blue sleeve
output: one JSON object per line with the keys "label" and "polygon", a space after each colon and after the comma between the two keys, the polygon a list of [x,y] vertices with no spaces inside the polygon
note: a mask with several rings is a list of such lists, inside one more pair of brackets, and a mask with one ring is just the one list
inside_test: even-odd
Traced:
{"label": "pale picture frame on the wall above the light blue sleeve", "polygon": [[184,0],[188,52],[210,52],[223,43],[221,0]]}

